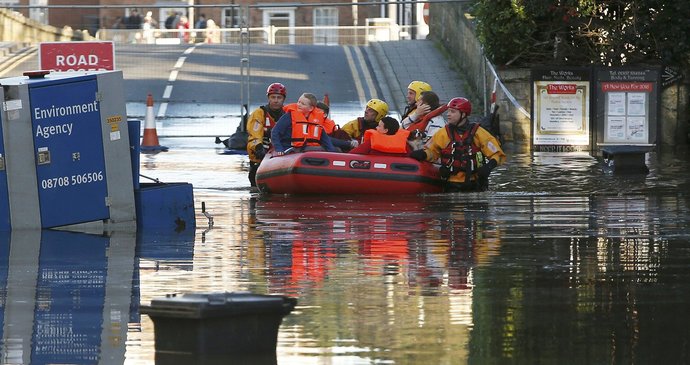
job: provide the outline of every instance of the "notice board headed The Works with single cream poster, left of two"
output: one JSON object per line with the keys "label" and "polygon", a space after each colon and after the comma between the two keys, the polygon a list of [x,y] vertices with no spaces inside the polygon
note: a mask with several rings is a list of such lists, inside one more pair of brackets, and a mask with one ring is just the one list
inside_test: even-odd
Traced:
{"label": "notice board headed The Works with single cream poster, left of two", "polygon": [[537,152],[590,149],[589,68],[532,69],[532,147]]}

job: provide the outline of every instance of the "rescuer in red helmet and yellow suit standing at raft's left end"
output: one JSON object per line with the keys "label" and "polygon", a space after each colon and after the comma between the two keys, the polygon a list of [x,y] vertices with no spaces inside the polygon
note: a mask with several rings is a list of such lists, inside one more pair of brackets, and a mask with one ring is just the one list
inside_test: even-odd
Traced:
{"label": "rescuer in red helmet and yellow suit standing at raft's left end", "polygon": [[285,114],[283,105],[287,97],[285,85],[274,82],[266,89],[268,102],[252,112],[247,119],[247,154],[249,155],[249,183],[256,186],[256,170],[271,148],[271,130]]}

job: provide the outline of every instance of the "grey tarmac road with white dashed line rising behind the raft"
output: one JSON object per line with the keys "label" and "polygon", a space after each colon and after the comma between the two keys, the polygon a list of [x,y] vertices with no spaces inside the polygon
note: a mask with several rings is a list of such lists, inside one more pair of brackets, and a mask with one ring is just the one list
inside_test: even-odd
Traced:
{"label": "grey tarmac road with white dashed line rising behind the raft", "polygon": [[[248,57],[247,57],[248,54]],[[242,58],[247,62],[242,62]],[[235,44],[116,45],[115,65],[125,79],[128,114],[143,117],[146,95],[156,103],[157,118],[234,115],[240,105],[265,102],[267,85],[281,82],[287,102],[303,92],[332,103],[360,107],[383,99],[382,75],[366,47],[255,45],[248,53]],[[5,77],[35,70],[34,52],[5,71]],[[247,77],[248,75],[248,77]],[[247,88],[249,92],[247,92]]]}

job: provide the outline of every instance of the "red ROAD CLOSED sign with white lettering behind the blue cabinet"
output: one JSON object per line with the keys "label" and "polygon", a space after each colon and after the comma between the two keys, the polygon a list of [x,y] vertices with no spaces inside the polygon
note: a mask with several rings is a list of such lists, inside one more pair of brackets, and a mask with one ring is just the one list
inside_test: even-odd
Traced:
{"label": "red ROAD CLOSED sign with white lettering behind the blue cabinet", "polygon": [[114,70],[115,48],[113,42],[45,42],[38,65],[52,71]]}

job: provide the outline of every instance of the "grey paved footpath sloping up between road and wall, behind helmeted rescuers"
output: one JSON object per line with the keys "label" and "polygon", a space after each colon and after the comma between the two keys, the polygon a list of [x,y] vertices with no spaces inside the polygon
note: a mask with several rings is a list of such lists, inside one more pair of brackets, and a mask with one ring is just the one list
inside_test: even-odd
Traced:
{"label": "grey paved footpath sloping up between road and wall, behind helmeted rescuers", "polygon": [[411,81],[424,81],[438,94],[441,102],[457,96],[467,96],[466,83],[453,69],[452,63],[431,40],[405,40],[374,42],[367,52],[373,54],[372,68],[378,80],[384,100],[391,109],[402,113],[405,109],[407,85]]}

